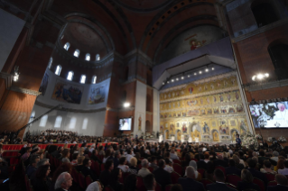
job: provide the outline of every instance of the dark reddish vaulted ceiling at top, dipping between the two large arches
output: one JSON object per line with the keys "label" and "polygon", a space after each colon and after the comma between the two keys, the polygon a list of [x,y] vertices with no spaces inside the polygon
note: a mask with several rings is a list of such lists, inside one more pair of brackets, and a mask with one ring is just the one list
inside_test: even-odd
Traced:
{"label": "dark reddish vaulted ceiling at top, dipping between the two large arches", "polygon": [[101,23],[119,53],[138,49],[153,60],[177,34],[199,25],[219,26],[215,4],[220,0],[47,1],[53,13],[87,14]]}

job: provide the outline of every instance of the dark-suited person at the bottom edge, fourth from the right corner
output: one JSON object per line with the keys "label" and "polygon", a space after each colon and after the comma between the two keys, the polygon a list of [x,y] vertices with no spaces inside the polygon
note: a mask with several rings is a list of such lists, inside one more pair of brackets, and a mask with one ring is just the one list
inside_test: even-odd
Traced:
{"label": "dark-suited person at the bottom edge, fourth from the right corner", "polygon": [[191,189],[197,191],[205,191],[202,183],[195,180],[195,169],[193,167],[186,168],[187,177],[180,177],[178,184],[182,186],[183,191],[190,191]]}

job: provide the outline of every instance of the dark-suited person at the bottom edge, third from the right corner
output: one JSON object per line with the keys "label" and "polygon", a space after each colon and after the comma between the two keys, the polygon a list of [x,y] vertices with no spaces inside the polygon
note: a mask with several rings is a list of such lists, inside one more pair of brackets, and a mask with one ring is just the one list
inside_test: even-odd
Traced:
{"label": "dark-suited person at the bottom edge, third from the right corner", "polygon": [[236,189],[228,187],[225,184],[225,176],[222,170],[215,169],[214,177],[215,177],[216,183],[209,184],[207,186],[207,190],[209,191],[237,191]]}

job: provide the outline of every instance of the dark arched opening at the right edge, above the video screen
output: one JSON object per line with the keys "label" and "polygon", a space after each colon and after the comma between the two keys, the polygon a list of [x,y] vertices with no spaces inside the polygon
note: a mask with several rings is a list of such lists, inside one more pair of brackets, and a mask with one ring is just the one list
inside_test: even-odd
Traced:
{"label": "dark arched opening at the right edge, above the video screen", "polygon": [[268,47],[270,58],[274,65],[275,74],[279,79],[288,78],[288,44],[273,43]]}

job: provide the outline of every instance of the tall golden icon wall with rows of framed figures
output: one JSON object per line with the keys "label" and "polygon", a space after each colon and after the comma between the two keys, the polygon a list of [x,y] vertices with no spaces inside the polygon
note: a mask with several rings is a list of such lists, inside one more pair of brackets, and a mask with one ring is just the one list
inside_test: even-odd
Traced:
{"label": "tall golden icon wall with rows of framed figures", "polygon": [[160,92],[164,139],[235,141],[249,131],[235,73],[209,77]]}

